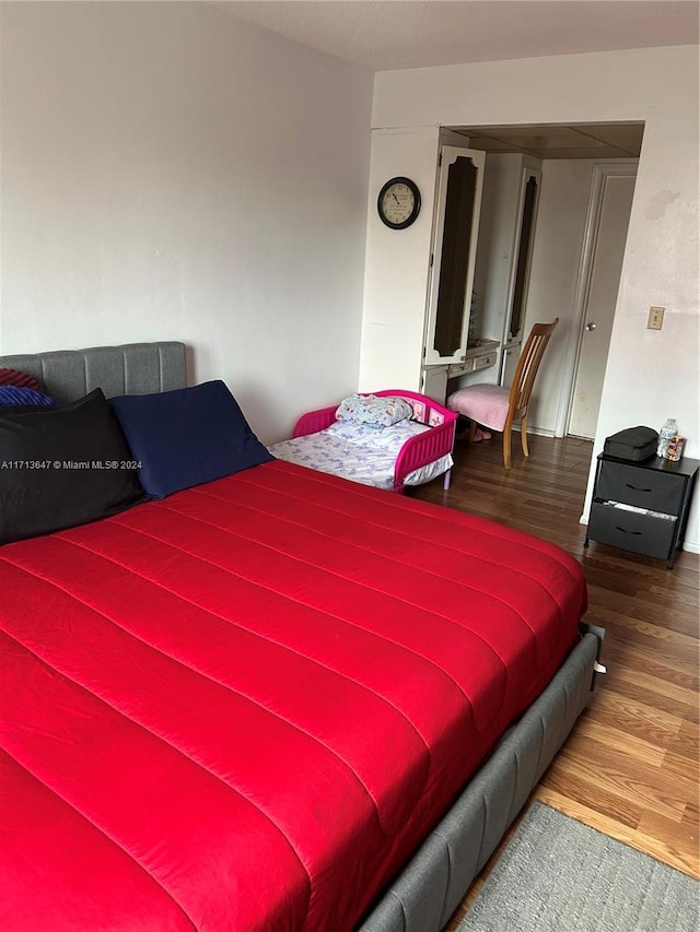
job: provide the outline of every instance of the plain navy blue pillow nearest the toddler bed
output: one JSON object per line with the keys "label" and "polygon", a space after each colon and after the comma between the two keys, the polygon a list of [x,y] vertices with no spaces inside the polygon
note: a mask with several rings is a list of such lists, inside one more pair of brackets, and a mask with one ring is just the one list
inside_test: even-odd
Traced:
{"label": "plain navy blue pillow nearest the toddler bed", "polygon": [[273,460],[220,379],[110,400],[151,498]]}

